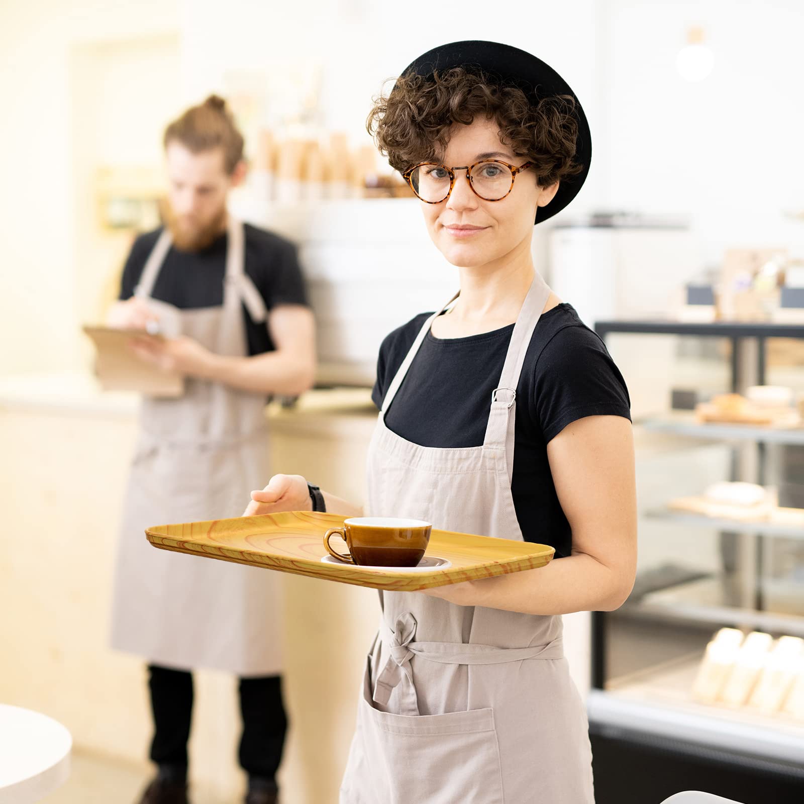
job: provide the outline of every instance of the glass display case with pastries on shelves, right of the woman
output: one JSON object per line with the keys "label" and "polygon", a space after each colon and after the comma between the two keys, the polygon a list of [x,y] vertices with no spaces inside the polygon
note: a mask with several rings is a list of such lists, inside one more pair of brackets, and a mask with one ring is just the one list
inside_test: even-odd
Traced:
{"label": "glass display case with pastries on shelves, right of the woman", "polygon": [[804,326],[597,322],[632,396],[634,591],[593,614],[597,804],[804,802]]}

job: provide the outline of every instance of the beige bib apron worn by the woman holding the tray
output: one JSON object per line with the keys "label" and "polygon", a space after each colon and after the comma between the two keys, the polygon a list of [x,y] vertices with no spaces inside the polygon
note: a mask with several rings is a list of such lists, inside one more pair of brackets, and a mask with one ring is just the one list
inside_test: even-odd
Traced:
{"label": "beige bib apron worn by the woman holding the tray", "polygon": [[[443,310],[429,318],[388,389],[371,441],[371,515],[523,538],[511,497],[515,388],[549,294],[536,275],[479,447],[412,444],[384,423]],[[585,708],[564,659],[560,617],[453,605],[421,593],[380,593],[380,601],[383,619],[367,661],[341,804],[593,802]]]}

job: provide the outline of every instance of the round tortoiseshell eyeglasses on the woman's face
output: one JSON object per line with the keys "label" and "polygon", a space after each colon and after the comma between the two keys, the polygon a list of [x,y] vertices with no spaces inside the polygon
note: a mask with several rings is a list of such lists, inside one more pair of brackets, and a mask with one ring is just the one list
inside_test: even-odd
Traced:
{"label": "round tortoiseshell eyeglasses on the woman's face", "polygon": [[474,165],[460,167],[447,167],[440,162],[421,162],[402,175],[412,191],[425,203],[441,203],[449,198],[455,187],[457,170],[466,170],[466,180],[478,198],[502,201],[514,189],[516,174],[531,166],[532,162],[516,166],[499,159],[484,159]]}

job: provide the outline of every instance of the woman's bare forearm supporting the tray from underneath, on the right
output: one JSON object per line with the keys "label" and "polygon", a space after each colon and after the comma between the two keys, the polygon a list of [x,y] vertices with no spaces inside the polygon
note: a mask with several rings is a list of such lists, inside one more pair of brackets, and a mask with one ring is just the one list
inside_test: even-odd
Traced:
{"label": "woman's bare forearm supporting the tray from underneath, on the right", "polygon": [[547,566],[430,590],[459,605],[527,614],[611,611],[630,594],[634,575],[601,564],[593,556],[574,553]]}

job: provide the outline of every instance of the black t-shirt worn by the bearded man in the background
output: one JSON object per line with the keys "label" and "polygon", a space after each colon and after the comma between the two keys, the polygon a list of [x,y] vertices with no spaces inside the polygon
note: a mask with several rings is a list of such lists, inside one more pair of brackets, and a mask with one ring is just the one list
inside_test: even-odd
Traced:
{"label": "black t-shirt worn by the bearded man in the background", "polygon": [[[159,228],[134,240],[123,269],[121,300],[133,296],[142,269],[161,233],[162,229]],[[159,269],[151,296],[183,310],[223,304],[228,240],[228,234],[224,233],[200,252],[180,252],[170,248]],[[285,304],[307,305],[304,280],[293,243],[273,232],[245,224],[244,249],[245,272],[269,310]],[[274,351],[265,322],[252,321],[245,306],[243,314],[248,354],[261,355]]]}

